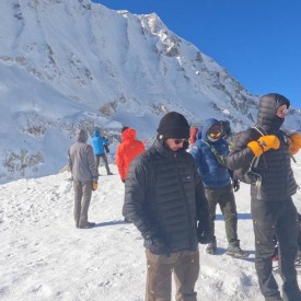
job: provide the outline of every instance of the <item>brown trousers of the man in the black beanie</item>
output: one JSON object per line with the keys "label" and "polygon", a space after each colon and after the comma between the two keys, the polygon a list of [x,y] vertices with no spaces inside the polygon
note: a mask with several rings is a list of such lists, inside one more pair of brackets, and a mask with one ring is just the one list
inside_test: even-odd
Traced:
{"label": "brown trousers of the man in the black beanie", "polygon": [[171,301],[172,274],[175,279],[176,301],[197,301],[195,283],[199,274],[198,251],[183,251],[166,255],[154,255],[146,250],[147,286],[146,301]]}

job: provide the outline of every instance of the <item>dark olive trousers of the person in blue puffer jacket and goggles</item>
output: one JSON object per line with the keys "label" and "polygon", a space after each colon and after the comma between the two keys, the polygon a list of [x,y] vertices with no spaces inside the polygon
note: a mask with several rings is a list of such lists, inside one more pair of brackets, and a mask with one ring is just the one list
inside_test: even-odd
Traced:
{"label": "dark olive trousers of the person in blue puffer jacket and goggles", "polygon": [[225,186],[222,188],[206,188],[206,197],[209,202],[209,210],[211,216],[211,223],[215,234],[215,220],[217,205],[219,204],[220,210],[224,218],[225,234],[229,243],[238,241],[238,212],[236,204],[233,194],[232,186]]}

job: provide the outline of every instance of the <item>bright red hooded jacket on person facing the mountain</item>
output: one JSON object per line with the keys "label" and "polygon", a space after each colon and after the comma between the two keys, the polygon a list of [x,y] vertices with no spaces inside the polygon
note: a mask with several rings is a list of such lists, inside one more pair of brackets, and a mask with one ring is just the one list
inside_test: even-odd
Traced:
{"label": "bright red hooded jacket on person facing the mountain", "polygon": [[123,141],[116,152],[116,164],[121,177],[125,181],[130,162],[146,150],[144,144],[136,140],[136,130],[128,128],[123,132]]}

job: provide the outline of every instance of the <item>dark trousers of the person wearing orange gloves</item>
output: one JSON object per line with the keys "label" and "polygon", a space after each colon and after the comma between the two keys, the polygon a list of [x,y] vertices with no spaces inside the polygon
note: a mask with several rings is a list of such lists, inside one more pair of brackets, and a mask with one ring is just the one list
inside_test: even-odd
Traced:
{"label": "dark trousers of the person wearing orange gloves", "polygon": [[[279,270],[283,281],[283,296],[298,293],[294,259],[298,252],[299,222],[291,198],[285,201],[252,200],[251,211],[255,234],[255,268],[263,296],[266,300],[280,296],[273,276],[275,234],[279,242]],[[294,299],[292,297],[283,300]]]}

